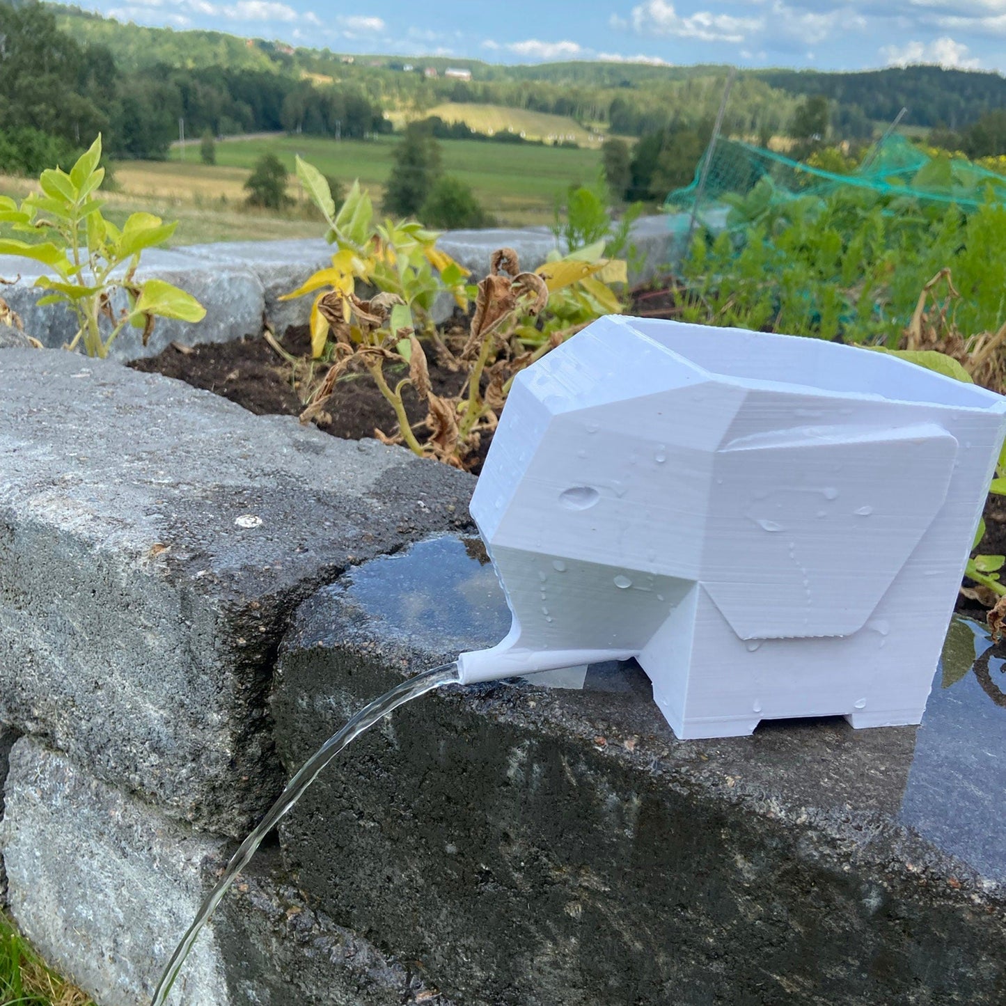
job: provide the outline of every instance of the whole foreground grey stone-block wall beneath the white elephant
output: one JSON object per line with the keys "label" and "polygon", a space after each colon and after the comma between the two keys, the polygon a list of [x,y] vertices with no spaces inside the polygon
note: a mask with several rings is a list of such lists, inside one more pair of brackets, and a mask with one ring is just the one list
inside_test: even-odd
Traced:
{"label": "whole foreground grey stone-block wall beneath the white elephant", "polygon": [[[0,350],[0,401],[9,909],[138,1006],[284,780],[507,609],[464,473],[59,351]],[[1001,1003],[984,680],[917,729],[687,742],[631,664],[427,696],[283,822],[173,1001]]]}

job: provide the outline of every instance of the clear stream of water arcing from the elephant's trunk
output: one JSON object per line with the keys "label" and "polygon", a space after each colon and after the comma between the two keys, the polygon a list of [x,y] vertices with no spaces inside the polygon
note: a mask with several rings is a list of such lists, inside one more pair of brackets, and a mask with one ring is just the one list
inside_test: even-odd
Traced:
{"label": "clear stream of water arcing from the elephant's trunk", "polygon": [[386,716],[399,705],[410,702],[413,698],[418,698],[429,691],[434,691],[443,685],[457,684],[459,671],[457,663],[444,664],[435,667],[433,670],[424,671],[401,684],[395,685],[390,691],[385,692],[379,698],[375,698],[368,705],[364,706],[338,733],[333,734],[324,744],[313,754],[300,769],[296,776],[287,784],[287,788],[280,795],[279,800],[272,806],[270,812],[262,819],[258,827],[241,842],[237,851],[230,857],[227,868],[217,881],[216,886],[209,892],[206,900],[203,901],[199,911],[196,913],[192,925],[185,932],[181,942],[171,955],[164,974],[158,983],[157,991],[151,1000],[151,1006],[164,1006],[167,1002],[171,986],[181,971],[185,958],[188,957],[192,945],[195,943],[199,931],[209,920],[213,910],[220,902],[220,898],[227,892],[230,885],[237,879],[237,875],[247,866],[256,849],[262,844],[262,840],[269,834],[280,819],[297,803],[304,795],[307,788],[318,778],[318,774],[342,750],[346,744],[355,740],[364,730],[373,726],[382,716]]}

